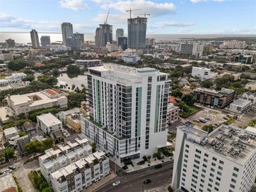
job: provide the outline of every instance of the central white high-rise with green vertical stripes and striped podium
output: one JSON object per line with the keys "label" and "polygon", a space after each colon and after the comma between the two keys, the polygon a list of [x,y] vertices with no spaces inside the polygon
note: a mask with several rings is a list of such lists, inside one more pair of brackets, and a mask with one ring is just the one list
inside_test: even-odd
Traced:
{"label": "central white high-rise with green vertical stripes and striped podium", "polygon": [[166,146],[168,74],[113,63],[88,68],[88,111],[82,135],[119,163]]}

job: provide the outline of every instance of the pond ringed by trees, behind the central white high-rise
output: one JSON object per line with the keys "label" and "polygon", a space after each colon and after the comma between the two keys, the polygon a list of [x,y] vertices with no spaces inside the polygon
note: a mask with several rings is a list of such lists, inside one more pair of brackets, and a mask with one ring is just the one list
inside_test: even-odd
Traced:
{"label": "pond ringed by trees, behind the central white high-rise", "polygon": [[75,84],[78,88],[82,88],[81,84],[84,84],[84,86],[87,86],[87,77],[84,75],[68,75],[68,74],[60,74],[59,77],[57,77],[58,83],[57,85],[60,86],[61,84],[65,85],[68,84],[68,86],[71,88],[72,84]]}

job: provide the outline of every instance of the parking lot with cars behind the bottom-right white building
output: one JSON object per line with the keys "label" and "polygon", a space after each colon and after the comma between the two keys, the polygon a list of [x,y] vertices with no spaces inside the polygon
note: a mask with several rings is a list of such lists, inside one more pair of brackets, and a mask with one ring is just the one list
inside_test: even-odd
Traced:
{"label": "parking lot with cars behind the bottom-right white building", "polygon": [[[196,121],[196,120],[199,120],[199,118],[206,118],[207,122],[202,123],[202,122]],[[212,124],[212,125],[218,124],[218,123],[220,124],[221,122],[227,121],[227,119],[225,118],[227,118],[227,115],[224,113],[213,111],[211,109],[202,109],[201,111],[198,111],[193,115],[189,116],[188,118],[186,118],[186,120],[188,120],[192,124],[202,127],[204,125],[209,125],[209,124]]]}

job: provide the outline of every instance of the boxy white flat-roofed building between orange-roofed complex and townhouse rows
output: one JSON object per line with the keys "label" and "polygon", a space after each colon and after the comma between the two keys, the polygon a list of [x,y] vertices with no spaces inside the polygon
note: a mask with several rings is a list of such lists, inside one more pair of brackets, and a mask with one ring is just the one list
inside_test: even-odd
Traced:
{"label": "boxy white flat-roofed building between orange-roofed complex and townhouse rows", "polygon": [[44,113],[36,116],[36,120],[38,128],[45,134],[62,129],[62,122],[56,116],[52,115],[52,113]]}

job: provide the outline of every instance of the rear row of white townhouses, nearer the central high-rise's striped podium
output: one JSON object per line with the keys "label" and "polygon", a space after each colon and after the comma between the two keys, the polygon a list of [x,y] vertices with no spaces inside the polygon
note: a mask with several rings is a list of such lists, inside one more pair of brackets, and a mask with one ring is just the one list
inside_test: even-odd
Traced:
{"label": "rear row of white townhouses, nearer the central high-rise's striped podium", "polygon": [[92,147],[86,139],[76,138],[74,143],[68,141],[67,145],[57,145],[56,150],[49,148],[45,150],[44,155],[38,157],[41,173],[51,184],[51,173],[87,157],[89,154],[92,154]]}

